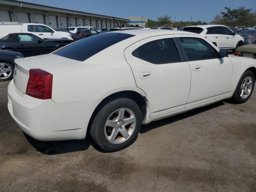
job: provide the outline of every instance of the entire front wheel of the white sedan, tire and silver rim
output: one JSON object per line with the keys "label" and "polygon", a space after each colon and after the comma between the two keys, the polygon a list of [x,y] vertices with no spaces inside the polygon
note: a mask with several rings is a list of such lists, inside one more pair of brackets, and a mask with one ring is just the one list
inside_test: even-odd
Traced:
{"label": "entire front wheel of the white sedan, tire and silver rim", "polygon": [[242,74],[231,101],[240,104],[246,102],[252,95],[255,85],[255,77],[252,71],[246,71]]}

